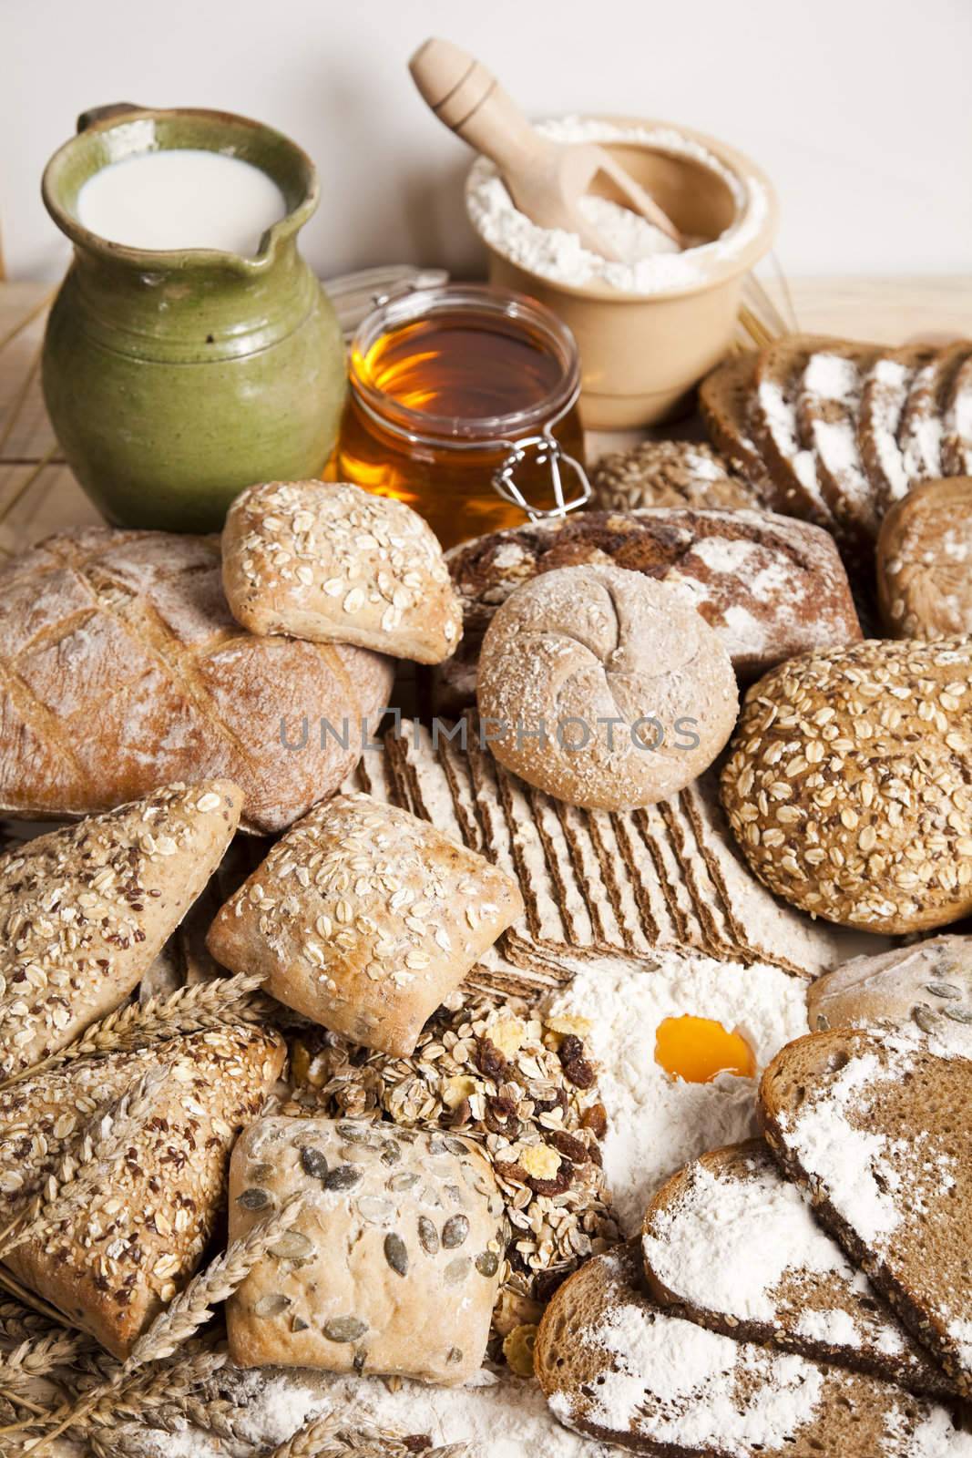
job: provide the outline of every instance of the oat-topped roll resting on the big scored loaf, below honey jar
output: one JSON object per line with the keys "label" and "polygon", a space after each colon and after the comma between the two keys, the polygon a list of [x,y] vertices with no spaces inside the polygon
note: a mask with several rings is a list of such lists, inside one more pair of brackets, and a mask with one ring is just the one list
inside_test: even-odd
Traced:
{"label": "oat-topped roll resting on the big scored loaf, below honey jar", "polygon": [[233,502],[223,586],[251,633],[356,643],[440,663],[462,609],[439,538],[411,506],[357,486],[274,481]]}

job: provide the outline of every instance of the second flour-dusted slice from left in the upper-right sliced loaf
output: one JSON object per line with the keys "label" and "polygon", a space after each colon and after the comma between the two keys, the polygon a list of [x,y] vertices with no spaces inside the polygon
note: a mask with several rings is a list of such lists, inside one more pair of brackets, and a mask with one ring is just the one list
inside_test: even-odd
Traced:
{"label": "second flour-dusted slice from left in the upper-right sliced loaf", "polygon": [[877,502],[857,443],[863,379],[880,350],[831,344],[810,354],[797,394],[800,437],[813,449],[818,481],[841,537],[870,558]]}

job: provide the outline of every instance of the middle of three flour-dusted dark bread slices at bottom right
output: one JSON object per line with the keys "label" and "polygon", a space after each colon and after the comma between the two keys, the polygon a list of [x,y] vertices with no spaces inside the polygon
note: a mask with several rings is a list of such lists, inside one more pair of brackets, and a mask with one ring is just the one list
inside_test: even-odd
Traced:
{"label": "middle of three flour-dusted dark bread slices at bottom right", "polygon": [[641,1232],[648,1290],[739,1341],[898,1382],[956,1389],[813,1219],[761,1139],[702,1155],[659,1190]]}

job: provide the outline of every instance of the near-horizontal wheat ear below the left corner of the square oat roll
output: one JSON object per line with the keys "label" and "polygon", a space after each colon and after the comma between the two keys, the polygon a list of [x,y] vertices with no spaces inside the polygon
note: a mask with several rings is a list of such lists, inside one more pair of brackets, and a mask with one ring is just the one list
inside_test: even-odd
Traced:
{"label": "near-horizontal wheat ear below the left corner of the square oat roll", "polygon": [[23,1079],[48,1073],[64,1063],[106,1053],[130,1053],[147,1048],[181,1034],[205,1032],[227,1022],[265,1022],[280,1010],[280,1005],[259,993],[264,977],[245,972],[238,977],[217,977],[211,983],[178,987],[168,997],[150,997],[146,1003],[128,1003],[95,1022],[66,1048],[52,1053],[34,1067],[20,1069],[0,1083],[0,1094]]}

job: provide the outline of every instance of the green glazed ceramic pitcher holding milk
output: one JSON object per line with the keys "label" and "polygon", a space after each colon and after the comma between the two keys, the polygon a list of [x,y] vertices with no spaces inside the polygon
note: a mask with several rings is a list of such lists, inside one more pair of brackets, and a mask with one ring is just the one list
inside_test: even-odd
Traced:
{"label": "green glazed ceramic pitcher holding milk", "polygon": [[[112,162],[204,149],[261,168],[287,213],[249,258],[106,242],[77,217]],[[219,111],[106,106],[44,172],[44,201],[74,245],[44,343],[44,397],[64,455],[109,522],[205,532],[256,481],[318,475],[345,391],[334,309],[297,251],[318,206],[310,159]]]}

